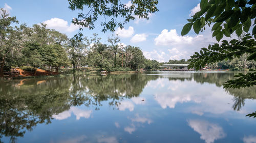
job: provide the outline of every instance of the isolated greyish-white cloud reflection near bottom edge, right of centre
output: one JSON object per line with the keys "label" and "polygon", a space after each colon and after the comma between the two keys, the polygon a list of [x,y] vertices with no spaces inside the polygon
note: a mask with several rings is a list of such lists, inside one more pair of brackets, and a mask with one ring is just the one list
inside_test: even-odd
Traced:
{"label": "isolated greyish-white cloud reflection near bottom edge, right of centre", "polygon": [[207,121],[189,120],[188,125],[198,132],[201,135],[200,138],[205,140],[206,143],[212,143],[226,136],[221,126]]}

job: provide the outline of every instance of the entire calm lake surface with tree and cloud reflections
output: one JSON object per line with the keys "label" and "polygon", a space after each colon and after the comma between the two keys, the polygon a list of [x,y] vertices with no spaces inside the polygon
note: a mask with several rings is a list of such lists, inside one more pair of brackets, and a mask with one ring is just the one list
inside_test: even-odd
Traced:
{"label": "entire calm lake surface with tree and cloud reflections", "polygon": [[[233,72],[0,81],[2,142],[256,142],[256,88]],[[0,142],[1,142],[0,141]]]}

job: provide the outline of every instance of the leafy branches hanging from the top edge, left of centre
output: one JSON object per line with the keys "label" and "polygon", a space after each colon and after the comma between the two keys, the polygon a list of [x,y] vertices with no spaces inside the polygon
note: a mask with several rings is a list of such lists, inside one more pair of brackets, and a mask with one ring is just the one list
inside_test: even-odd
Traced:
{"label": "leafy branches hanging from the top edge, left of centre", "polygon": [[[97,21],[98,16],[103,16],[105,20],[100,23],[103,26],[102,32],[108,30],[114,32],[117,26],[123,28],[123,25],[130,20],[134,20],[135,16],[148,19],[148,14],[158,11],[156,7],[158,4],[157,0],[132,0],[131,6],[122,4],[120,1],[68,1],[71,10],[88,12],[79,13],[77,18],[73,18],[72,22],[74,24],[93,30],[95,27],[94,22]],[[108,18],[110,20],[107,20]],[[123,22],[118,22],[117,18],[122,18]],[[81,27],[80,30],[82,30]],[[77,36],[82,36],[82,34],[79,33]]]}

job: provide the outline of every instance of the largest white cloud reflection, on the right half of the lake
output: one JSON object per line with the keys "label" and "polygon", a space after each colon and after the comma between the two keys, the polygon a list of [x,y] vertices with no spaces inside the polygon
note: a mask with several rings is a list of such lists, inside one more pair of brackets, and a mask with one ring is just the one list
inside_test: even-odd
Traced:
{"label": "largest white cloud reflection, on the right half of the lake", "polygon": [[165,80],[168,83],[168,88],[164,87],[155,94],[155,100],[162,108],[175,108],[177,103],[195,102],[186,111],[203,115],[205,112],[221,114],[227,111],[233,111],[232,97],[227,94],[222,88],[216,87],[213,84],[200,84],[193,80]]}

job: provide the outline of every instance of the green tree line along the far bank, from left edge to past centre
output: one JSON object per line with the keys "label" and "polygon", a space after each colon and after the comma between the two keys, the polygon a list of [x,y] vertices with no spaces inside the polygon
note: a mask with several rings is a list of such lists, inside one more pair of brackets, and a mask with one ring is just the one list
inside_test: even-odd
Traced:
{"label": "green tree line along the far bank, from left edge to past centre", "polygon": [[[42,68],[56,71],[60,67],[81,66],[100,68],[108,71],[128,71],[140,68],[156,69],[159,62],[145,59],[139,47],[124,46],[112,35],[109,44],[100,42],[97,34],[83,39],[69,39],[66,34],[50,30],[44,23],[18,25],[15,16],[0,10],[0,77],[4,71],[26,66],[34,71]],[[13,26],[14,25],[14,26]]]}

